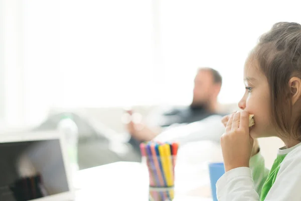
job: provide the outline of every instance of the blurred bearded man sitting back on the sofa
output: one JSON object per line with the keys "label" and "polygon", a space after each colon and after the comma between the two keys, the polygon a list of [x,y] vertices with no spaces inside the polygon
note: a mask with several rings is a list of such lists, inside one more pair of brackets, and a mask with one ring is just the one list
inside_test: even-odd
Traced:
{"label": "blurred bearded man sitting back on the sofa", "polygon": [[[126,129],[131,135],[129,143],[135,149],[139,149],[140,142],[153,139],[176,140],[180,143],[197,140],[219,141],[224,132],[221,124],[223,114],[217,111],[217,96],[221,85],[222,77],[218,71],[212,68],[199,68],[194,80],[193,100],[190,106],[175,107],[153,116],[153,119],[157,120],[156,127],[148,127],[131,119],[126,124]],[[133,112],[127,113],[132,116]]]}

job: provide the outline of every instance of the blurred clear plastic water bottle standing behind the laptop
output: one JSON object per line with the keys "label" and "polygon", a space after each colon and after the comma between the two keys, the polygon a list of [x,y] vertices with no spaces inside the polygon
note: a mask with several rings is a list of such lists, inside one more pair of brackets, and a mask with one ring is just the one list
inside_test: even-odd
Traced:
{"label": "blurred clear plastic water bottle standing behind the laptop", "polygon": [[58,129],[65,135],[67,144],[67,151],[71,166],[72,174],[74,175],[78,170],[77,161],[77,145],[78,145],[78,128],[71,115],[64,115],[59,124]]}

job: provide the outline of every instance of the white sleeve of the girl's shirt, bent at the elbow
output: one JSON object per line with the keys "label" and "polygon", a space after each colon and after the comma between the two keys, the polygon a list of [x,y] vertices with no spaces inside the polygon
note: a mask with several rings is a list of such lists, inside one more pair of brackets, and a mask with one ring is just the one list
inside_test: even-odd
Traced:
{"label": "white sleeve of the girl's shirt, bent at the elbow", "polygon": [[[295,150],[294,150],[295,151]],[[299,151],[301,153],[301,151]],[[297,201],[301,200],[301,163],[298,157],[287,156],[278,171],[274,184],[270,188],[265,201]],[[239,167],[226,172],[217,182],[219,201],[258,201],[251,169]]]}

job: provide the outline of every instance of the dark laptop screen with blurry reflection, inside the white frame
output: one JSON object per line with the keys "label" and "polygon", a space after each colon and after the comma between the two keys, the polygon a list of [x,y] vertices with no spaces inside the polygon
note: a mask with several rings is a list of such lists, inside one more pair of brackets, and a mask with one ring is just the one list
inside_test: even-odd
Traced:
{"label": "dark laptop screen with blurry reflection, inside the white frame", "polygon": [[59,139],[0,143],[0,200],[69,191]]}

